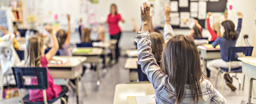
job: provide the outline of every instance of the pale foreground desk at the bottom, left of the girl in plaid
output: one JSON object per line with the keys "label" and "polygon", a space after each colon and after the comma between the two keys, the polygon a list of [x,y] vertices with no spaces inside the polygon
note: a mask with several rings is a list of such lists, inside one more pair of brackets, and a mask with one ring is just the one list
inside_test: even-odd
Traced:
{"label": "pale foreground desk at the bottom, left of the girl in plaid", "polygon": [[115,86],[114,104],[128,104],[128,96],[145,96],[155,94],[151,83],[117,84]]}

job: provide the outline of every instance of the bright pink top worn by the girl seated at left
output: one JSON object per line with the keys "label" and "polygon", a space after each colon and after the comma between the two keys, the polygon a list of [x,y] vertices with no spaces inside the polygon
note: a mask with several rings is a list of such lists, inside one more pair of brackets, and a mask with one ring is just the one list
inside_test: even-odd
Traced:
{"label": "bright pink top worn by the girl seated at left", "polygon": [[[47,101],[52,100],[55,97],[59,97],[61,92],[61,87],[59,85],[54,84],[53,77],[49,72],[47,67],[47,59],[45,56],[42,57],[41,65],[42,67],[46,67],[47,69],[47,79],[48,79],[48,88],[46,89],[46,97]],[[37,79],[31,78],[31,85],[37,85]],[[43,101],[43,90],[29,90],[30,92],[30,101]]]}

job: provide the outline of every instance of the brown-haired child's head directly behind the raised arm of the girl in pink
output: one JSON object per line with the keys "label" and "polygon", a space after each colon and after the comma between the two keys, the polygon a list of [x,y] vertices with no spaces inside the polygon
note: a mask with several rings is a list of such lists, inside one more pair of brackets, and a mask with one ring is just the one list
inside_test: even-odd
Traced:
{"label": "brown-haired child's head directly behind the raised arm of the girl in pink", "polygon": [[68,34],[66,33],[66,31],[64,31],[63,29],[60,29],[57,33],[56,33],[56,37],[58,39],[59,42],[59,49],[62,49],[62,45],[66,42],[66,39],[68,37]]}

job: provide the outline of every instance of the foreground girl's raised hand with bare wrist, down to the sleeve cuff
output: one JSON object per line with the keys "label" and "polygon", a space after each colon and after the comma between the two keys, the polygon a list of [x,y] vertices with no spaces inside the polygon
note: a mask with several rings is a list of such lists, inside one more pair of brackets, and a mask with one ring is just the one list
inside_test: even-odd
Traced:
{"label": "foreground girl's raised hand with bare wrist, down to the sleeve cuff", "polygon": [[150,7],[147,2],[143,3],[143,9],[141,7],[141,22],[142,22],[141,31],[149,31]]}

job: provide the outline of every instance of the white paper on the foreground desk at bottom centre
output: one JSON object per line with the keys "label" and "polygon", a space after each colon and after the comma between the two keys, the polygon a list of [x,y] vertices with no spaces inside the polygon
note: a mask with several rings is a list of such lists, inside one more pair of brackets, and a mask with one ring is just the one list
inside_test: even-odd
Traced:
{"label": "white paper on the foreground desk at bottom centre", "polygon": [[136,96],[137,104],[156,104],[155,95]]}

